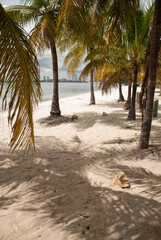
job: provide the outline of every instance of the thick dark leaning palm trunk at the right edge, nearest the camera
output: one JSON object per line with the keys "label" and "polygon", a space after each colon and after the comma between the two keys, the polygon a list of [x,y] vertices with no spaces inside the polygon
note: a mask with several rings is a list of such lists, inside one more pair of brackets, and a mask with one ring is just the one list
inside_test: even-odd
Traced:
{"label": "thick dark leaning palm trunk at the right edge, nearest the camera", "polygon": [[160,36],[161,36],[161,1],[155,0],[155,12],[152,26],[151,42],[150,42],[150,57],[149,57],[149,78],[148,78],[148,92],[146,111],[143,121],[143,127],[140,135],[139,148],[148,148],[151,124],[152,124],[152,113],[153,113],[153,101],[156,85],[157,75],[157,63],[158,54],[160,50]]}

